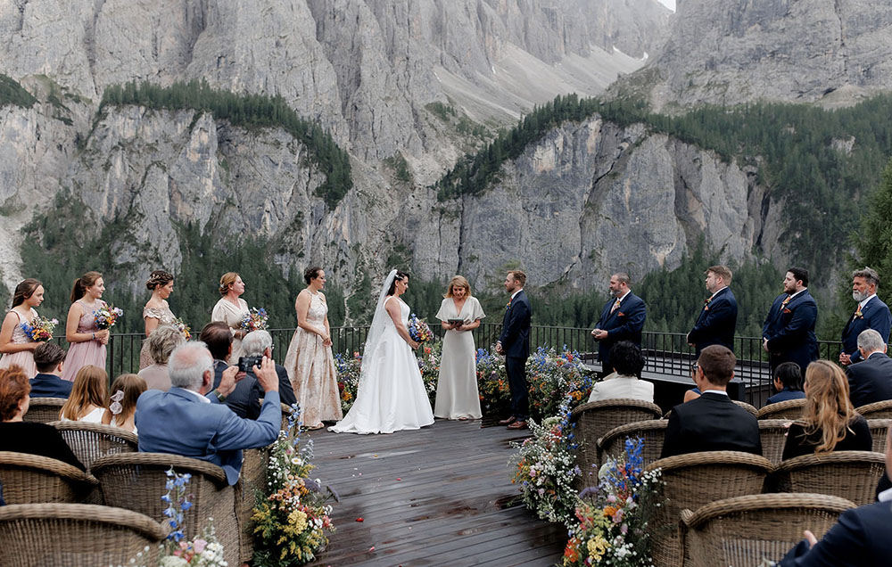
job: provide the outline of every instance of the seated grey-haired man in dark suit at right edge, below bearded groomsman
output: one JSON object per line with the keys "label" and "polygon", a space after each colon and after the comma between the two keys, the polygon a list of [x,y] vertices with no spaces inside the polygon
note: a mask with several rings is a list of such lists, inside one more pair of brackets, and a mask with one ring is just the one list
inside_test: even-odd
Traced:
{"label": "seated grey-haired man in dark suit at right edge, below bearded groomsman", "polygon": [[873,329],[858,335],[862,362],[846,368],[848,397],[855,407],[892,399],[892,358],[886,356],[886,341]]}

